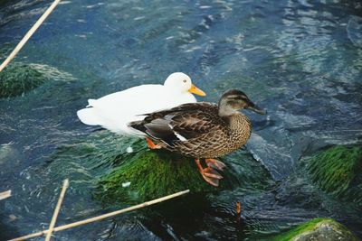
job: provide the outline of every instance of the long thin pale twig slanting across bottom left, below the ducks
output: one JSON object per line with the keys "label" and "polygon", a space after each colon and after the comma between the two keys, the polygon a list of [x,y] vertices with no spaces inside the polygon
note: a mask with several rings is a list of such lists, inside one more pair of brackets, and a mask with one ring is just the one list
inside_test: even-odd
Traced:
{"label": "long thin pale twig slanting across bottom left, below the ducks", "polygon": [[[179,192],[176,192],[174,194],[165,196],[163,198],[153,199],[153,200],[138,204],[136,206],[129,207],[127,209],[120,209],[120,210],[117,210],[117,211],[114,211],[114,212],[110,212],[110,213],[107,213],[107,214],[100,215],[98,217],[88,218],[88,219],[81,220],[81,221],[78,221],[78,222],[74,222],[74,223],[71,223],[71,224],[67,224],[67,225],[63,225],[63,226],[59,226],[59,227],[54,227],[52,232],[55,233],[55,232],[58,232],[58,231],[62,231],[62,230],[71,228],[71,227],[78,227],[78,226],[81,226],[81,225],[85,225],[85,224],[89,224],[89,223],[92,223],[92,222],[95,222],[95,221],[99,221],[99,220],[104,219],[104,218],[110,218],[112,216],[116,216],[116,215],[119,215],[121,213],[129,212],[129,211],[133,211],[135,209],[145,208],[145,207],[148,207],[150,205],[156,204],[158,202],[165,201],[167,199],[176,198],[176,197],[184,195],[184,194],[186,194],[188,192],[190,192],[190,190],[179,191]],[[43,235],[46,235],[48,232],[49,232],[49,230],[43,230],[41,232],[33,233],[31,235],[16,237],[16,238],[11,239],[9,241],[19,241],[19,240],[24,240],[24,239],[27,239],[27,238],[32,238],[34,236],[43,236]]]}

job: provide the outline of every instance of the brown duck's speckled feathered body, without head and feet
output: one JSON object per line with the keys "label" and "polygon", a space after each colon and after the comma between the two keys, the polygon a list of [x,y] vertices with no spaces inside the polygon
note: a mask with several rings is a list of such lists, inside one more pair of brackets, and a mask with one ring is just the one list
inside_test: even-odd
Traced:
{"label": "brown duck's speckled feathered body, without head and feet", "polygon": [[246,144],[251,134],[247,116],[221,117],[218,107],[199,102],[148,114],[131,127],[148,134],[162,147],[195,158],[214,158]]}

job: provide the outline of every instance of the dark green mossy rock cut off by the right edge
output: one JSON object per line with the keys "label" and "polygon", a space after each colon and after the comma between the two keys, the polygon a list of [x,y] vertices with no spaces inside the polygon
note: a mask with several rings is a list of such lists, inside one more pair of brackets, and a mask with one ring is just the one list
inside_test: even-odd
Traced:
{"label": "dark green mossy rock cut off by the right edge", "polygon": [[308,161],[307,170],[321,190],[340,199],[362,200],[362,147],[338,145]]}

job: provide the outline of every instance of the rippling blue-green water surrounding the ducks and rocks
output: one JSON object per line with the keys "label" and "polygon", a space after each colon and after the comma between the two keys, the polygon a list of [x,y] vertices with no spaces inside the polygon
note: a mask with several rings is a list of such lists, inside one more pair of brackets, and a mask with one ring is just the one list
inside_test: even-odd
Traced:
{"label": "rippling blue-green water surrounding the ducks and rocks", "polygon": [[[161,83],[174,71],[205,90],[199,100],[239,88],[268,110],[248,113],[247,151],[224,158],[244,185],[208,195],[198,211],[175,208],[152,220],[130,213],[57,240],[254,240],[315,217],[336,218],[362,236],[361,206],[329,197],[300,171],[300,158],[324,146],[362,142],[360,2],[61,3],[14,60],[35,64],[51,81],[0,100],[0,191],[13,190],[0,201],[0,237],[46,228],[65,177],[71,187],[57,224],[107,211],[92,189],[111,167],[97,161],[126,153],[133,141],[93,132],[75,113],[90,97]],[[49,4],[0,1],[0,49],[14,48]],[[237,200],[243,221],[234,217]]]}

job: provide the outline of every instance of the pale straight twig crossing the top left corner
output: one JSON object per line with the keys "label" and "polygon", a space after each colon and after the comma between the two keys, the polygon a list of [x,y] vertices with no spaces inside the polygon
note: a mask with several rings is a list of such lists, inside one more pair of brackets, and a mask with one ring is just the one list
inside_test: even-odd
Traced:
{"label": "pale straight twig crossing the top left corner", "polygon": [[11,60],[14,59],[16,54],[23,48],[24,44],[32,37],[33,33],[39,28],[39,26],[44,22],[44,20],[49,16],[49,14],[52,13],[52,10],[54,10],[55,6],[59,4],[61,0],[55,0],[52,5],[49,6],[49,8],[45,11],[45,13],[36,21],[35,24],[33,24],[33,27],[26,32],[23,39],[16,45],[14,51],[10,53],[10,55],[6,58],[6,60],[0,65],[0,72],[5,69],[5,67],[9,64]]}

